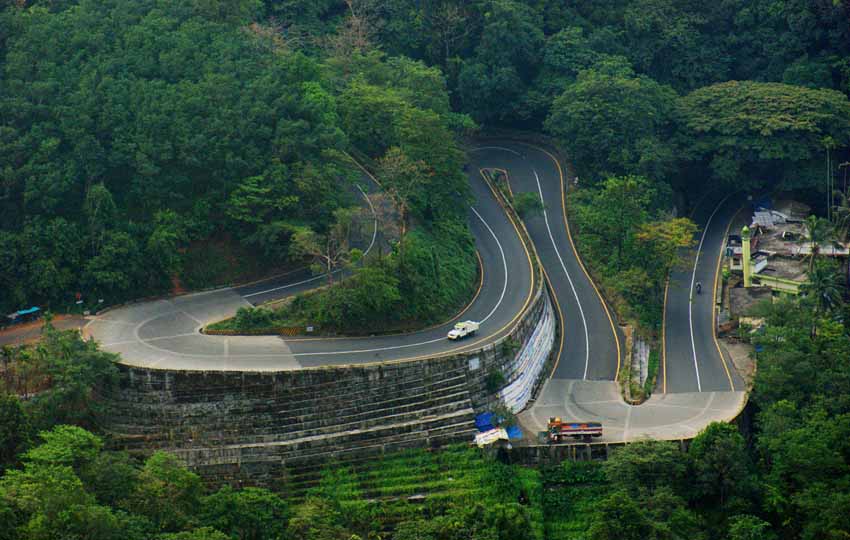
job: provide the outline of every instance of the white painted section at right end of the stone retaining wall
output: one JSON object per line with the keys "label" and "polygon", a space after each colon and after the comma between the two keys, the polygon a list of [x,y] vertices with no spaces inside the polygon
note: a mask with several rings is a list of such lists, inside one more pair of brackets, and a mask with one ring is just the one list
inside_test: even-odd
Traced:
{"label": "white painted section at right end of the stone retaining wall", "polygon": [[540,377],[554,343],[555,314],[547,298],[531,338],[514,358],[515,373],[519,376],[499,392],[499,397],[511,412],[518,413],[528,405],[534,383]]}

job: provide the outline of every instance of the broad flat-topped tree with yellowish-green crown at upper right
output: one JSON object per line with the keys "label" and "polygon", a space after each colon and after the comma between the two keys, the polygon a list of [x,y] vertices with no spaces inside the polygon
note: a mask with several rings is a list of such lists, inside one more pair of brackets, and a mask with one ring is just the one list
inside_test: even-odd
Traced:
{"label": "broad flat-topped tree with yellowish-green crown at upper right", "polygon": [[850,102],[833,90],[732,81],[681,98],[677,114],[689,158],[739,188],[819,187],[812,162],[850,142]]}

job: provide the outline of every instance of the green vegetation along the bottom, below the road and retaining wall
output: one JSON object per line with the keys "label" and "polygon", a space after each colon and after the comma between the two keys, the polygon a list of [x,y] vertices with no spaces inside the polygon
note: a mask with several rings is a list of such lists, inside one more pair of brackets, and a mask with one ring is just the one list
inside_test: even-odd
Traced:
{"label": "green vegetation along the bottom, below the road and retaining wall", "polygon": [[[850,483],[848,304],[762,307],[754,418],[687,452],[646,441],[604,464],[523,468],[464,446],[206,490],[173,457],[104,446],[94,388],[111,355],[75,332],[3,351],[0,538],[351,540],[840,539]],[[20,399],[15,394],[25,394]],[[82,426],[82,427],[79,427]]]}

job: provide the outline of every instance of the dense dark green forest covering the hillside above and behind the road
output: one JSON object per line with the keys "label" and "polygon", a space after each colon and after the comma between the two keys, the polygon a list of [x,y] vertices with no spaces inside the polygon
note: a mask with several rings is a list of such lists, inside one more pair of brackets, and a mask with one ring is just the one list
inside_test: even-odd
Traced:
{"label": "dense dark green forest covering the hillside above and behind the road", "polygon": [[[296,317],[439,318],[473,288],[450,141],[477,128],[554,136],[583,185],[656,185],[667,198],[639,209],[626,244],[720,183],[822,208],[827,154],[836,174],[847,161],[837,0],[30,0],[8,3],[0,28],[6,310],[309,264],[358,204],[354,154],[402,214],[387,227],[412,234],[395,256],[334,257],[361,276]],[[633,285],[657,284],[657,265],[607,261],[579,237],[626,316],[655,326],[659,294]],[[405,243],[416,256],[397,256]],[[434,296],[437,274],[456,276],[454,298]]]}

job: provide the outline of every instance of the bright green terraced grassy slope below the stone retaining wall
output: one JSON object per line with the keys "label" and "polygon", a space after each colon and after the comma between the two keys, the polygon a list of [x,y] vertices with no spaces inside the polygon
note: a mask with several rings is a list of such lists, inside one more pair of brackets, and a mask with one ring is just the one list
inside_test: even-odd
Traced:
{"label": "bright green terraced grassy slope below the stone retaining wall", "polygon": [[[463,446],[327,466],[293,510],[295,538],[542,538],[537,471]],[[420,500],[408,499],[417,495]],[[380,498],[381,504],[367,503]],[[426,519],[427,518],[427,519]],[[347,535],[347,536],[346,536]]]}

